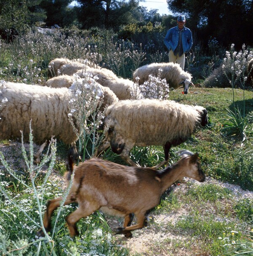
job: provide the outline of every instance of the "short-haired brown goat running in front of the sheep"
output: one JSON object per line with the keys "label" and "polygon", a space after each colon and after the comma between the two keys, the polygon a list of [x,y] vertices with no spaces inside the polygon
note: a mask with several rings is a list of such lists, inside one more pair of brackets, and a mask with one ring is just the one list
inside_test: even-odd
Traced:
{"label": "short-haired brown goat running in front of the sheep", "polygon": [[[107,160],[92,158],[75,168],[75,176],[65,205],[78,203],[78,209],[66,217],[71,236],[77,236],[76,223],[97,210],[110,215],[124,217],[124,227],[118,227],[116,234],[132,237],[131,231],[143,228],[148,210],[160,203],[161,195],[174,182],[187,176],[199,182],[205,181],[205,174],[200,168],[197,154],[182,157],[174,165],[164,170],[139,168],[119,165]],[[65,178],[69,181],[73,173],[73,162],[68,162],[69,171]],[[48,201],[44,215],[45,231],[51,229],[51,216],[62,201],[62,197]],[[134,213],[137,223],[131,225],[131,214]],[[44,236],[43,228],[37,236]]]}

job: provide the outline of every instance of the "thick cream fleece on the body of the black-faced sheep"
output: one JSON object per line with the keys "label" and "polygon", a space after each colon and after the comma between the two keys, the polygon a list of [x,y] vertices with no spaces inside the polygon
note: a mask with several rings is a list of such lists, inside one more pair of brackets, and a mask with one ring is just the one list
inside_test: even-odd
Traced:
{"label": "thick cream fleece on the body of the black-faced sheep", "polygon": [[108,107],[106,120],[117,137],[135,146],[177,144],[185,141],[199,126],[200,108],[174,101],[140,99],[120,101]]}

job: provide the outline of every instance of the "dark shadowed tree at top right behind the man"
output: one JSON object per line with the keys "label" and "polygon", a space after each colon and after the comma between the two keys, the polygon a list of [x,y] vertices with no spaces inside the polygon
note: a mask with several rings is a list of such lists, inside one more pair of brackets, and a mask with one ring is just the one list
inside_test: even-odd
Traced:
{"label": "dark shadowed tree at top right behind the man", "polygon": [[231,43],[237,48],[252,44],[252,0],[167,0],[167,4],[173,13],[186,14],[187,26],[204,45],[210,38],[225,47]]}

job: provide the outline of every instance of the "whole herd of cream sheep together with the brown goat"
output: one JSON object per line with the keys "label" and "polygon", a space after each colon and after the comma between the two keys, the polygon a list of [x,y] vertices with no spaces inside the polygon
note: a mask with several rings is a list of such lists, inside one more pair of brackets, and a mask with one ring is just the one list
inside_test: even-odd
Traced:
{"label": "whole herd of cream sheep together with the brown goat", "polygon": [[[159,203],[161,194],[176,179],[188,176],[204,181],[205,176],[200,170],[198,157],[191,156],[191,152],[186,153],[190,156],[183,154],[183,159],[179,160],[175,166],[169,166],[162,171],[156,170],[168,163],[172,146],[186,141],[197,127],[204,127],[207,124],[207,110],[204,107],[183,105],[171,100],[143,99],[138,83],[135,82],[144,83],[150,74],[157,75],[158,71],[170,87],[183,86],[187,94],[188,86],[192,84],[191,74],[184,72],[178,64],[173,63],[153,63],[140,67],[133,75],[134,81],[131,81],[117,77],[108,69],[94,68],[92,63],[57,58],[49,63],[48,77],[51,78],[46,81],[46,86],[3,82],[4,89],[0,91],[0,102],[3,99],[8,101],[0,109],[0,140],[20,138],[20,131],[22,131],[24,141],[28,141],[31,121],[34,142],[42,144],[41,152],[45,141],[50,140],[52,136],[66,144],[75,145],[77,135],[69,121],[69,101],[76,83],[83,85],[86,83],[87,87],[85,76],[91,74],[92,77],[96,77],[96,93],[103,102],[101,109],[106,109],[104,124],[108,124],[109,129],[95,156],[98,157],[110,146],[113,152],[120,154],[122,159],[132,167],[97,158],[80,165],[81,173],[75,174],[70,198],[65,201],[65,204],[77,201],[80,207],[79,211],[67,217],[70,234],[78,234],[75,223],[81,217],[88,216],[97,209],[106,209],[113,215],[125,217],[124,228],[118,229],[116,233],[130,237],[131,230],[143,227],[146,211]],[[87,88],[89,89],[89,86]],[[75,127],[77,130],[78,128]],[[164,147],[165,160],[153,168],[140,168],[130,159],[129,153],[133,146],[151,145]],[[36,162],[39,162],[38,154]],[[73,165],[69,164],[69,166],[73,169]],[[95,186],[92,178],[83,174],[83,170],[87,168],[94,170],[94,175],[98,173],[95,182],[98,186]],[[70,170],[70,173],[72,171]],[[83,179],[84,175],[85,179]],[[122,188],[121,192],[118,191],[119,182],[123,187],[125,186],[123,188],[125,196],[121,195]],[[137,193],[132,186],[143,187],[143,194],[146,195],[148,193],[145,191],[152,191],[153,203],[146,202],[151,198],[151,195],[148,195],[147,200],[143,201],[146,206],[140,208],[144,197],[136,198],[138,194],[140,195],[140,191],[138,189]],[[79,194],[76,192],[76,187]],[[93,192],[88,193],[86,187],[93,187]],[[112,193],[105,196],[105,191],[108,190]],[[130,190],[133,194],[132,199],[129,198]],[[117,193],[124,199],[120,203],[115,201]],[[92,201],[87,201],[86,194],[92,198]],[[110,201],[108,201],[109,198],[111,198]],[[59,206],[59,201],[60,199],[56,199],[54,203],[48,204],[44,217],[45,228],[39,232],[40,235],[50,229],[50,216]],[[83,210],[86,206],[89,207]],[[82,213],[79,214],[81,210]],[[137,215],[138,224],[128,227],[129,216],[132,213]]]}

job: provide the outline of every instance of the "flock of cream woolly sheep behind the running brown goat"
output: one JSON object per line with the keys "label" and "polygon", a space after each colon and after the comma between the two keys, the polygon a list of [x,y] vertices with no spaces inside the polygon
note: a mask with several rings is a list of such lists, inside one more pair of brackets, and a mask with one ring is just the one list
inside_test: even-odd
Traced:
{"label": "flock of cream woolly sheep behind the running brown goat", "polygon": [[[108,116],[110,112],[110,119],[114,120],[114,124],[111,124],[108,136],[111,137],[113,130],[113,134],[115,135],[115,138],[110,140],[110,143],[115,144],[114,140],[118,140],[118,138],[116,138],[117,136],[124,136],[123,140],[127,141],[125,146],[121,144],[121,150],[118,149],[116,151],[119,154],[121,154],[123,151],[121,157],[124,159],[127,158],[126,162],[128,163],[131,162],[131,160],[129,160],[129,157],[126,156],[126,154],[129,154],[132,146],[162,145],[165,146],[164,150],[168,151],[170,146],[178,145],[180,142],[186,140],[198,126],[199,120],[202,118],[202,113],[194,110],[194,108],[191,106],[186,107],[185,105],[179,105],[178,103],[172,101],[158,102],[156,100],[148,99],[142,99],[140,101],[142,94],[140,93],[137,83],[134,83],[129,79],[119,78],[109,69],[99,67],[94,68],[92,67],[91,63],[70,61],[66,58],[56,58],[49,63],[48,67],[48,77],[51,78],[46,81],[46,86],[27,85],[13,82],[4,83],[5,89],[0,94],[0,102],[5,98],[8,99],[8,102],[6,102],[5,107],[3,107],[0,112],[0,140],[20,138],[20,131],[22,131],[24,141],[27,141],[29,139],[30,132],[29,124],[30,120],[32,120],[32,131],[35,143],[42,144],[44,147],[44,142],[46,140],[50,140],[51,137],[54,136],[66,144],[74,145],[75,141],[77,140],[77,135],[73,131],[72,124],[70,124],[69,121],[68,113],[70,110],[68,109],[68,102],[71,98],[71,89],[73,89],[72,85],[76,81],[77,77],[80,77],[79,80],[85,80],[85,78],[82,77],[87,73],[98,78],[97,85],[100,86],[102,91],[100,95],[103,102],[101,106],[102,110],[110,106],[106,115]],[[156,75],[158,69],[162,69],[162,76],[165,77],[170,83],[170,86],[174,88],[178,88],[184,84],[189,85],[191,83],[191,75],[180,69],[178,64],[173,63],[153,63],[140,67],[135,71],[134,79],[136,79],[138,76],[141,83],[143,83],[143,81],[148,80],[148,74]],[[80,83],[82,83],[82,81]],[[142,107],[144,107],[146,110],[147,107],[150,108],[150,113],[147,114],[147,111],[140,110],[140,106],[132,106],[129,104],[130,102],[126,102],[125,100],[130,100],[130,102],[132,102],[131,104],[134,104],[133,100],[137,100],[136,103],[140,103],[140,105],[142,105]],[[170,120],[172,117],[176,119],[187,118],[191,119],[191,123],[194,124],[194,127],[189,128],[189,125],[186,128],[181,127],[181,129],[184,130],[182,132],[180,131],[181,129],[178,130],[178,135],[175,134],[173,136],[170,134],[171,131],[168,129],[166,129],[166,132],[170,135],[164,134],[165,130],[156,131],[155,126],[160,127],[159,122],[154,122],[155,116],[157,117],[155,110],[159,109],[156,105],[158,104],[161,106],[165,102],[167,102],[170,107],[164,106],[167,117],[165,119],[160,119],[160,123],[164,123],[165,126],[169,124],[167,125],[168,127],[173,127],[174,124],[172,122],[175,121]],[[156,105],[154,105],[154,103]],[[125,126],[123,123],[127,123],[127,121],[130,120],[125,116],[127,113],[129,113],[129,111],[133,111],[133,108],[132,110],[131,107],[129,110],[122,110],[123,112],[121,117],[119,117],[119,115],[117,117],[112,116],[112,110],[116,108],[126,108],[126,105],[128,105],[128,107],[132,106],[133,108],[138,108],[140,110],[140,113],[138,113],[138,115],[135,117],[136,119],[131,117],[131,124],[136,126],[136,124],[142,123],[142,125],[139,125],[139,127],[136,127],[134,130],[125,127],[125,135],[122,135],[119,132],[116,132],[116,134],[115,131],[117,126]],[[178,110],[179,106],[184,110]],[[193,111],[193,113],[190,113],[190,109]],[[134,110],[134,112],[135,111],[137,110]],[[169,113],[171,111],[178,111],[178,114]],[[161,110],[161,112],[163,112],[163,110]],[[184,114],[186,112],[188,115],[186,115],[187,117],[183,117],[183,115],[180,114]],[[141,116],[143,117],[141,118]],[[108,118],[109,117],[106,119]],[[144,118],[145,125],[143,123]],[[151,123],[147,124],[147,122]],[[185,121],[185,123],[189,124],[188,121]],[[150,128],[145,128],[145,130],[143,130],[142,127]],[[78,127],[75,128],[78,129]],[[149,137],[149,134],[161,132],[161,135],[159,135],[161,138],[154,138],[153,141],[151,138],[149,138],[149,141],[145,141],[145,138],[141,139],[141,141],[140,139],[139,141],[133,141],[131,139],[132,141],[130,142],[130,137],[132,136],[131,134],[128,134],[130,131],[132,131],[132,133],[136,133],[134,137],[137,136],[140,138],[143,138],[143,135],[140,136],[141,134],[146,134],[146,137]],[[154,135],[154,137],[157,137],[157,135]],[[177,140],[177,142],[175,142],[175,140]],[[116,145],[112,146],[112,149],[114,149],[115,146]],[[43,150],[43,147],[40,149],[40,152]],[[165,154],[167,161],[168,156],[167,153]],[[37,154],[35,162],[38,163],[39,161],[39,155]]]}

